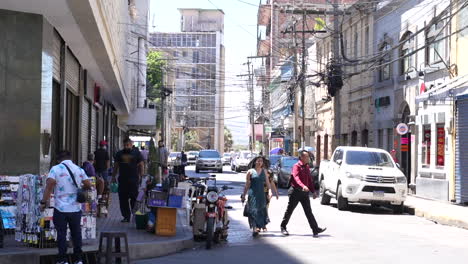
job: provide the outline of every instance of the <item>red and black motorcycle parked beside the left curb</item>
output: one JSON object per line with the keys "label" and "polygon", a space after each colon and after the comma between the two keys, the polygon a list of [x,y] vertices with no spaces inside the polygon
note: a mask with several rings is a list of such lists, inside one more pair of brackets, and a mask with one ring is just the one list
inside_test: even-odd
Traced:
{"label": "red and black motorcycle parked beside the left curb", "polygon": [[[207,180],[214,180],[214,186],[208,186]],[[213,242],[219,243],[228,237],[229,217],[226,206],[227,198],[223,191],[233,189],[224,185],[221,188],[216,186],[216,178],[205,178],[194,184],[195,192],[199,194],[196,201],[192,204],[192,226],[194,238],[206,239],[206,249],[212,247]],[[201,191],[206,193],[201,195]]]}

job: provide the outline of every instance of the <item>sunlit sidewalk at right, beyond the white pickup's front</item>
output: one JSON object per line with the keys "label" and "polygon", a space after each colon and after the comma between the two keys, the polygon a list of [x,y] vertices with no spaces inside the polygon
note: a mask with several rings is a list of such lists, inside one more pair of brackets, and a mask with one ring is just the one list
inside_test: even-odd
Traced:
{"label": "sunlit sidewalk at right, beyond the white pickup's front", "polygon": [[468,207],[448,202],[434,201],[417,196],[408,196],[406,211],[438,224],[468,229]]}

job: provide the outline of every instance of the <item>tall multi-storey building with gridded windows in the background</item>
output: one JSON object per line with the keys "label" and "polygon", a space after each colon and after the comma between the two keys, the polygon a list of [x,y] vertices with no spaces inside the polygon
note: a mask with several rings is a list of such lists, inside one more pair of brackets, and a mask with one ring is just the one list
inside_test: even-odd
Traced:
{"label": "tall multi-storey building with gridded windows in the background", "polygon": [[[154,50],[174,59],[174,132],[196,131],[203,148],[224,150],[224,12],[179,9],[181,32],[151,34]],[[182,143],[183,144],[183,143]],[[182,148],[178,144],[178,149]]]}

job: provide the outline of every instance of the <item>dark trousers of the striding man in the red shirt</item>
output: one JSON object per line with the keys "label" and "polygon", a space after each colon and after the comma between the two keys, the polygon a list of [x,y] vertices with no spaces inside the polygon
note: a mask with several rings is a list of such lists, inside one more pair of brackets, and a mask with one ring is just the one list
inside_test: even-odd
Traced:
{"label": "dark trousers of the striding man in the red shirt", "polygon": [[294,209],[296,209],[298,203],[301,203],[307,220],[309,221],[310,228],[312,228],[314,234],[318,233],[319,227],[317,225],[317,221],[315,220],[314,214],[312,213],[309,192],[304,192],[300,189],[295,189],[291,187],[288,190],[288,197],[288,208],[284,213],[283,222],[281,222],[281,227],[286,228],[286,226],[289,223],[289,219],[291,218],[291,215],[294,212]]}

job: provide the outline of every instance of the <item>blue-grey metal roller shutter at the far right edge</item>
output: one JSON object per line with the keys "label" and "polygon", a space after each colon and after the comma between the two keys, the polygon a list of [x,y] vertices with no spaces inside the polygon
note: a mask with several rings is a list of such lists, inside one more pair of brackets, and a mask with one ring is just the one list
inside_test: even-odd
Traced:
{"label": "blue-grey metal roller shutter at the far right edge", "polygon": [[457,101],[457,136],[455,143],[455,198],[468,202],[468,98]]}

